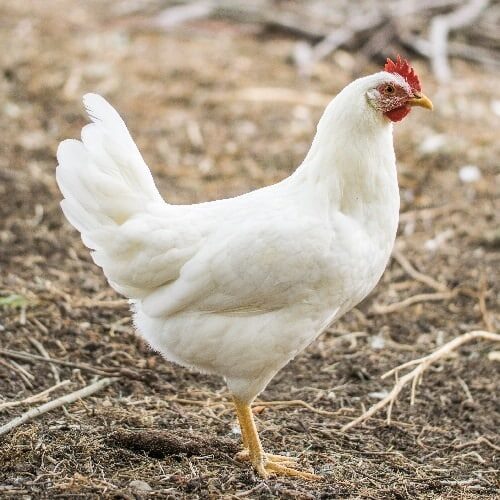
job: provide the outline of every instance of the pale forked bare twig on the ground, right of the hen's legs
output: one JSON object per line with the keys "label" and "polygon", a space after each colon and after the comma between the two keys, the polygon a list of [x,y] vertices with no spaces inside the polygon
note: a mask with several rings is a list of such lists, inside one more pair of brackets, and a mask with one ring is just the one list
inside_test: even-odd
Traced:
{"label": "pale forked bare twig on the ground, right of the hen's legs", "polygon": [[459,337],[454,338],[450,342],[447,342],[446,344],[444,344],[443,346],[441,346],[439,349],[437,349],[433,353],[429,354],[428,356],[424,356],[423,358],[419,358],[419,359],[414,359],[412,361],[409,361],[408,363],[404,363],[396,368],[393,368],[392,370],[389,370],[387,373],[384,373],[382,375],[383,379],[392,375],[392,374],[397,375],[398,372],[400,370],[403,370],[404,368],[407,368],[407,367],[413,366],[413,365],[417,365],[417,367],[414,368],[411,372],[407,373],[406,375],[401,377],[399,380],[397,380],[396,384],[392,388],[392,391],[384,399],[379,401],[377,404],[373,405],[371,408],[369,408],[361,416],[359,416],[358,418],[356,418],[352,422],[349,422],[348,424],[344,425],[341,430],[347,431],[348,429],[351,429],[352,427],[367,420],[373,414],[375,414],[377,411],[379,411],[380,409],[382,409],[386,406],[388,407],[388,409],[387,409],[387,423],[390,424],[392,406],[394,404],[394,401],[396,401],[399,393],[406,386],[406,384],[409,383],[410,381],[412,382],[410,404],[413,405],[415,402],[415,393],[416,393],[417,383],[419,382],[420,378],[422,377],[422,374],[424,373],[424,371],[433,362],[444,357],[446,354],[449,354],[451,351],[453,351],[457,347],[461,346],[462,344],[465,344],[466,342],[470,342],[471,340],[474,340],[474,339],[484,339],[484,340],[491,340],[494,342],[500,342],[500,335],[498,333],[486,332],[486,331],[482,331],[482,330],[464,333],[463,335],[460,335]]}

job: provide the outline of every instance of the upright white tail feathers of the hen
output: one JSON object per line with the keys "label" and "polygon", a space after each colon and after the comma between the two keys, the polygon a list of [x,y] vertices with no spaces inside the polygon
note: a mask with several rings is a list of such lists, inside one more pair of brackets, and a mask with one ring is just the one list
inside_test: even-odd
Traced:
{"label": "upright white tail feathers of the hen", "polygon": [[82,129],[81,142],[59,145],[56,178],[66,216],[85,233],[122,224],[163,200],[120,115],[97,94],[86,94],[83,102],[92,123]]}

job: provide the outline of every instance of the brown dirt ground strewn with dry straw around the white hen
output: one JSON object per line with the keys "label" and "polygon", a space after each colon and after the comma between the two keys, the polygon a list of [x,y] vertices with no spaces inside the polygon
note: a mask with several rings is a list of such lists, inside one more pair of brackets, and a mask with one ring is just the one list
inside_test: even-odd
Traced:
{"label": "brown dirt ground strewn with dry straw around the white hen", "polygon": [[[304,81],[289,63],[290,37],[207,20],[161,33],[122,4],[0,3],[0,423],[47,399],[5,403],[57,379],[69,382],[49,399],[118,376],[0,437],[0,497],[498,498],[492,343],[429,369],[415,405],[402,393],[391,425],[381,412],[340,431],[390,390],[385,371],[498,328],[498,73],[454,61],[453,82],[439,88],[415,58],[435,112],[396,126],[397,248],[448,292],[436,296],[392,260],[370,297],[276,376],[260,396],[273,403],[255,408],[264,447],[300,457],[324,481],[261,480],[233,458],[239,434],[221,380],[163,361],[134,334],[126,304],[63,218],[55,151],[78,137],[80,97],[96,91],[126,119],[167,200],[235,195],[287,176],[323,103],[378,66],[339,52]],[[289,91],[273,102],[263,87]],[[472,182],[462,180],[467,165],[479,169]],[[384,309],[419,294],[432,295]],[[67,364],[6,349],[45,349]]]}

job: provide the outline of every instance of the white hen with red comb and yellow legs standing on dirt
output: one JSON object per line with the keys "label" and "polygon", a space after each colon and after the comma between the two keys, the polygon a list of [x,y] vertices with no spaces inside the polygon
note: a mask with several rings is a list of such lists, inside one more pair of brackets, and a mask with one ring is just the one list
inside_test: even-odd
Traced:
{"label": "white hen with red comb and yellow legs standing on dirt", "polygon": [[125,123],[96,94],[83,99],[92,123],[82,141],[59,146],[66,217],[151,346],[225,378],[239,456],[261,476],[318,477],[264,453],[250,404],[381,277],[399,212],[392,122],[432,108],[420,90],[406,61],[388,60],[330,102],[290,177],[197,205],[163,201]]}

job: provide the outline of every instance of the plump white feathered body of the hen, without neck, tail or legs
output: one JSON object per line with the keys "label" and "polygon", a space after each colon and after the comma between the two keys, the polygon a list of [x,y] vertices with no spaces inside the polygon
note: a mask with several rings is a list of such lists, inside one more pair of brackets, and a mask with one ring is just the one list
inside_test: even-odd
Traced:
{"label": "plump white feathered body of the hen, without neck, tail or legs", "polygon": [[244,196],[159,208],[158,224],[177,220],[199,236],[180,276],[134,301],[138,330],[167,359],[222,375],[251,402],[379,280],[398,216],[394,159],[380,160],[371,166],[384,189],[369,207],[334,202],[304,166]]}

